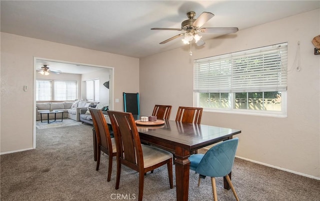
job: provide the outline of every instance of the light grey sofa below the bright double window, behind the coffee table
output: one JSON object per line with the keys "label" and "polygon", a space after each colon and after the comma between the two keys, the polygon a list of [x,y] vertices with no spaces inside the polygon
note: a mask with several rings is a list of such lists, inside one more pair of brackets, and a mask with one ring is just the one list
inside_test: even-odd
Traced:
{"label": "light grey sofa below the bright double window, behind the coffee table", "polygon": [[[35,105],[36,120],[41,120],[41,111],[59,110],[63,111],[63,118],[68,118],[68,109],[73,102],[37,102]],[[62,113],[57,113],[56,118],[61,118]],[[47,115],[42,114],[42,120],[46,120]],[[49,119],[54,119],[54,114],[49,114]]]}

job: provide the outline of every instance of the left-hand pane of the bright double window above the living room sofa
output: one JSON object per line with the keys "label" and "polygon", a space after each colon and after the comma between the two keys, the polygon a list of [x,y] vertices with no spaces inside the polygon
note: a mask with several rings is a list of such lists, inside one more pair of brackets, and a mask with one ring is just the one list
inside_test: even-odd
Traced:
{"label": "left-hand pane of the bright double window above the living room sofa", "polygon": [[36,85],[36,90],[35,90],[36,101],[52,100],[51,80],[36,80],[35,85]]}

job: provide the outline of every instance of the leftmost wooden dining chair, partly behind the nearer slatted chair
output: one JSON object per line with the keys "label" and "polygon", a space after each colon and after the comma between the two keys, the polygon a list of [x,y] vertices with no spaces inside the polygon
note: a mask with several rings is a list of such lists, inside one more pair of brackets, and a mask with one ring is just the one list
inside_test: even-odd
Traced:
{"label": "leftmost wooden dining chair, partly behind the nearer slatted chair", "polygon": [[108,155],[108,176],[107,181],[111,179],[112,158],[116,156],[116,146],[114,138],[111,138],[106,120],[100,109],[90,108],[89,111],[92,117],[93,127],[96,136],[96,168],[99,170],[101,151]]}

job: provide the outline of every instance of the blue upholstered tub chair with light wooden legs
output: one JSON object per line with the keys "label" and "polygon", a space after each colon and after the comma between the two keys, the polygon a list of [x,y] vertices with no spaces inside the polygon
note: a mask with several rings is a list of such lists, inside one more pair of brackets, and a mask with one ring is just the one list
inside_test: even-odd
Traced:
{"label": "blue upholstered tub chair with light wooden legs", "polygon": [[217,201],[215,186],[216,177],[225,177],[235,199],[239,201],[228,176],[233,167],[237,145],[238,138],[234,138],[211,147],[205,154],[194,154],[189,157],[190,169],[199,174],[198,186],[200,186],[201,178],[205,178],[206,176],[211,177],[214,201]]}

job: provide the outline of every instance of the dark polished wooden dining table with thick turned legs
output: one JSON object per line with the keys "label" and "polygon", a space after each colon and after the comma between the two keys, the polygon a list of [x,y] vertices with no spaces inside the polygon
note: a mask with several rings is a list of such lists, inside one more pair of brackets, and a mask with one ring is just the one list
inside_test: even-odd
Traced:
{"label": "dark polished wooden dining table with thick turned legs", "polygon": [[[133,115],[136,121],[139,121],[138,115]],[[106,122],[109,124],[108,116],[105,115]],[[174,120],[163,120],[160,125],[140,125],[137,124],[140,141],[151,144],[174,153],[175,165],[175,183],[176,200],[188,200],[189,188],[189,169],[190,162],[188,157],[196,150],[209,145],[232,139],[241,130],[232,128],[223,128],[217,126],[181,123]],[[95,134],[93,132],[93,144]],[[95,145],[96,146],[96,145]],[[95,148],[94,148],[95,149]],[[95,152],[95,150],[94,150]],[[229,174],[231,178],[231,173]],[[225,178],[223,178],[224,189],[230,187]]]}

